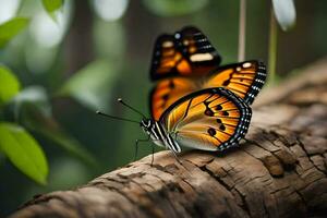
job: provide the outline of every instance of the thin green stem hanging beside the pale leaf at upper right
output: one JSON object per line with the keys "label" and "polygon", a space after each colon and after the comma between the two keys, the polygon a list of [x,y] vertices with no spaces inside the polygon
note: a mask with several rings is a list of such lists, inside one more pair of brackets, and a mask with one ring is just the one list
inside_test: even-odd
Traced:
{"label": "thin green stem hanging beside the pale leaf at upper right", "polygon": [[274,9],[270,9],[270,33],[269,33],[269,48],[268,48],[268,72],[269,81],[275,82],[276,64],[277,64],[277,22],[274,14]]}

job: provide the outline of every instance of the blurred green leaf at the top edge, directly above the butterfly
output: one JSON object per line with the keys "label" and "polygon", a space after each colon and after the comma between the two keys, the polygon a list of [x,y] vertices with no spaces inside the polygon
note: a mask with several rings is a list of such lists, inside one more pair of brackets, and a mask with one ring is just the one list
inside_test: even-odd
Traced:
{"label": "blurred green leaf at the top edge, directly above the butterfly", "polygon": [[208,0],[143,0],[143,3],[159,16],[177,16],[203,9]]}

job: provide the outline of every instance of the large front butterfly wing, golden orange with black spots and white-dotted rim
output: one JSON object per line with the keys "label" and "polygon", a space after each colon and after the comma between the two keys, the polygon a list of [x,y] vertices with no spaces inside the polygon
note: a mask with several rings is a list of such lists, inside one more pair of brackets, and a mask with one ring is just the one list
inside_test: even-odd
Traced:
{"label": "large front butterfly wing, golden orange with black spots and white-dotted rim", "polygon": [[244,100],[218,87],[182,97],[162,113],[159,122],[182,146],[222,150],[244,137],[251,116]]}

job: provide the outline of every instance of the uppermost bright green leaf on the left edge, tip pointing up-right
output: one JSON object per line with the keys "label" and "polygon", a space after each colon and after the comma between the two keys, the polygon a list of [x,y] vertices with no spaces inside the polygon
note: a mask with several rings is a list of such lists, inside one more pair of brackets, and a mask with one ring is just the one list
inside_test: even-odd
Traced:
{"label": "uppermost bright green leaf on the left edge, tip pointing up-right", "polygon": [[0,25],[0,48],[3,48],[14,36],[22,32],[29,19],[14,17]]}

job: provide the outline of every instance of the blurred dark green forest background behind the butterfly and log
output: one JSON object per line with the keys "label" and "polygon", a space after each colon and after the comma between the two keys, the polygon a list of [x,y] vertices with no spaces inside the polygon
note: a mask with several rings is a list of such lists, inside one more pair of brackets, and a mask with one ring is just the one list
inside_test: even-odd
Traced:
{"label": "blurred dark green forest background behind the butterfly and log", "polygon": [[[0,50],[0,63],[21,83],[20,93],[0,106],[0,120],[23,126],[49,166],[41,185],[0,153],[0,217],[36,194],[81,185],[133,160],[135,140],[145,137],[140,126],[106,120],[95,111],[140,119],[117,104],[122,97],[148,114],[149,64],[158,34],[195,25],[222,63],[237,61],[239,1],[63,2],[47,13],[39,0],[0,0],[0,24],[15,16],[29,19]],[[295,8],[294,28],[278,32],[278,78],[327,55],[327,1],[296,0]],[[246,59],[267,62],[269,17],[270,1],[247,1]],[[138,157],[150,152],[150,146],[141,146]]]}

